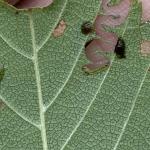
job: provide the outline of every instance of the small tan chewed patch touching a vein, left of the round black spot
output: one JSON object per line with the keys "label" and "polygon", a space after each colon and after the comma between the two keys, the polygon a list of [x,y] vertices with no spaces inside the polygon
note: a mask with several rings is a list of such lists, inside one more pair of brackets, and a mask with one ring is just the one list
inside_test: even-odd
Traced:
{"label": "small tan chewed patch touching a vein, left of the round black spot", "polygon": [[67,27],[66,22],[64,20],[61,20],[58,23],[57,27],[54,29],[53,36],[54,37],[62,36],[63,33],[65,32],[66,27]]}

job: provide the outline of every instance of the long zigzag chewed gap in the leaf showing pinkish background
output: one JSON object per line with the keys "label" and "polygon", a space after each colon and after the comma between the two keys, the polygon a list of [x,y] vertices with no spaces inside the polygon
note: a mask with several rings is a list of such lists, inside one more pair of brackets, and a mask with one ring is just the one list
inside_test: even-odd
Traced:
{"label": "long zigzag chewed gap in the leaf showing pinkish background", "polygon": [[[114,6],[109,6],[109,0],[102,0],[104,15],[98,15],[94,22],[96,35],[99,36],[100,39],[93,39],[85,49],[85,54],[91,61],[90,64],[83,66],[85,72],[91,73],[110,65],[109,58],[102,55],[98,56],[96,50],[115,52],[117,55],[125,52],[125,44],[123,44],[123,47],[120,47],[120,44],[118,45],[118,43],[120,43],[118,36],[115,33],[105,31],[104,27],[116,27],[125,22],[129,14],[130,6],[130,0],[122,0],[119,4]],[[124,43],[124,41],[122,43]],[[118,46],[120,47],[119,51],[122,52],[118,51]],[[121,58],[122,56],[119,57]]]}

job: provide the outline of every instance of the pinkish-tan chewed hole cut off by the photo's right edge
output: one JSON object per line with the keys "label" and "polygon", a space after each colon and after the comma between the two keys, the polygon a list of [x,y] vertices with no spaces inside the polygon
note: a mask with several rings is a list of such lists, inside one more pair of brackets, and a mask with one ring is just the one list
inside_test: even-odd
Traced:
{"label": "pinkish-tan chewed hole cut off by the photo's right edge", "polygon": [[150,41],[143,41],[141,44],[141,55],[150,56]]}

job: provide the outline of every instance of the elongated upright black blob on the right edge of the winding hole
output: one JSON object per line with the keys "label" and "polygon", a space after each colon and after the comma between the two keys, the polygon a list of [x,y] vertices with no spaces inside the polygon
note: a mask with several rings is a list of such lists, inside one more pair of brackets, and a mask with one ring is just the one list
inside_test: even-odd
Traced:
{"label": "elongated upright black blob on the right edge of the winding hole", "polygon": [[125,55],[125,42],[122,38],[118,38],[117,44],[115,46],[115,51],[118,58],[126,58]]}

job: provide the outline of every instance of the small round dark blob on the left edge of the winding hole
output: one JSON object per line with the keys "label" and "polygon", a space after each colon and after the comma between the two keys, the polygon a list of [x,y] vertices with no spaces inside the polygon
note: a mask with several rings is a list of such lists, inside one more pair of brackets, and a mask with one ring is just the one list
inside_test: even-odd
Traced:
{"label": "small round dark blob on the left edge of the winding hole", "polygon": [[81,26],[81,32],[85,35],[93,32],[93,24],[90,21],[86,21]]}

